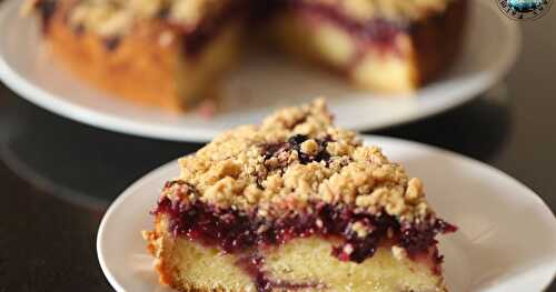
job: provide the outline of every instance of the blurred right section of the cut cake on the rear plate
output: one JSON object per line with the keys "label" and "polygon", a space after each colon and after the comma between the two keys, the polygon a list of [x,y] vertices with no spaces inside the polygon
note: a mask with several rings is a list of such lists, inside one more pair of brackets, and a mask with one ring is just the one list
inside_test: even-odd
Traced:
{"label": "blurred right section of the cut cake on the rear plate", "polygon": [[411,92],[450,67],[467,0],[285,0],[272,31],[295,56],[386,93]]}

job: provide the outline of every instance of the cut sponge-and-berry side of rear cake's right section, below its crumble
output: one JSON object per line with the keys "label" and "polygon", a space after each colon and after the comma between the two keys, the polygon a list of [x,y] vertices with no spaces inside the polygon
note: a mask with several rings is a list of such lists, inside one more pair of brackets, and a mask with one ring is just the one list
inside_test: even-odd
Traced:
{"label": "cut sponge-and-berry side of rear cake's right section, below its crumble", "polygon": [[344,75],[361,90],[396,95],[415,92],[453,67],[461,51],[467,6],[467,1],[448,1],[444,9],[409,23],[396,18],[364,19],[386,27],[388,32],[379,32],[375,40],[361,40],[366,29],[374,30],[366,22],[346,24],[341,18],[349,16],[329,16],[322,9],[280,13],[270,31],[274,42],[291,57]]}

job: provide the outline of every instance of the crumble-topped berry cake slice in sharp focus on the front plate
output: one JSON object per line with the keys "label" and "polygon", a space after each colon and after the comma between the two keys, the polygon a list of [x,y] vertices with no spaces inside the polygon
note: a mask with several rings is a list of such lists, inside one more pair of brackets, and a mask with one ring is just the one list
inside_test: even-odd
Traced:
{"label": "crumble-topped berry cake slice in sharp focus on the front plate", "polygon": [[180,160],[143,232],[180,291],[446,291],[419,179],[332,125],[322,100]]}

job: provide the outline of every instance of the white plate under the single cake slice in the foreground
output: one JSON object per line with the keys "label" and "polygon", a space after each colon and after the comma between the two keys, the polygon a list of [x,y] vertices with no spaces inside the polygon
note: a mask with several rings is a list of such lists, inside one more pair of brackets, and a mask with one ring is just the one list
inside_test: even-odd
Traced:
{"label": "white plate under the single cake slice in the foreground", "polygon": [[[366,137],[425,181],[429,202],[459,226],[440,240],[453,292],[542,291],[556,273],[556,219],[529,189],[475,160],[419,143]],[[125,191],[100,224],[100,265],[118,291],[170,291],[157,282],[141,230],[165,181],[178,175],[170,162]]]}

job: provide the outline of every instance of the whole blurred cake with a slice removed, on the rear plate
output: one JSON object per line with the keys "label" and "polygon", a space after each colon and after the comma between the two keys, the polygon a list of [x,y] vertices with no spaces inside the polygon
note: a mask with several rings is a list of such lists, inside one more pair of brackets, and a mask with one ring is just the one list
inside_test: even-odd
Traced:
{"label": "whole blurred cake with a slice removed, on the rear plate", "polygon": [[[54,54],[143,104],[215,94],[252,34],[355,85],[410,92],[449,68],[467,0],[27,0]],[[257,43],[256,46],[258,46]]]}

